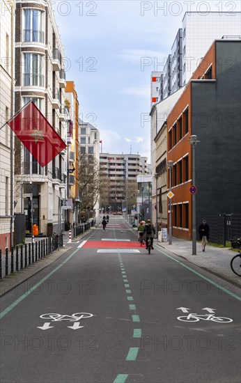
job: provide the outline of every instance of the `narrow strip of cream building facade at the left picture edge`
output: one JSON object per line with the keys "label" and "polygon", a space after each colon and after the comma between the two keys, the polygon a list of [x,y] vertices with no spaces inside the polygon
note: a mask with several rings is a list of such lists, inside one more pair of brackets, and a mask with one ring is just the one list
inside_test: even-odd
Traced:
{"label": "narrow strip of cream building facade at the left picture edge", "polygon": [[[14,134],[4,125],[14,114],[14,1],[1,1],[0,12],[0,249],[13,244]],[[3,126],[4,125],[4,126]]]}

